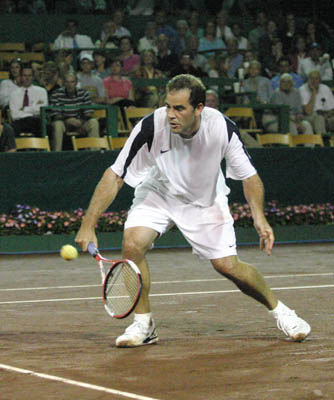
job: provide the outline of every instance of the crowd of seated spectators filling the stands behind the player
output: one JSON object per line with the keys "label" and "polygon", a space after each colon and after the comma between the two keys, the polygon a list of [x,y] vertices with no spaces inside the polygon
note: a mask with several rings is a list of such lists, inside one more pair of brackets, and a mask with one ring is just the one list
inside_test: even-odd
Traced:
{"label": "crowd of seated spectators filling the stands behind the player", "polygon": [[[0,7],[5,13],[40,14],[52,12],[54,3],[1,0]],[[9,76],[0,82],[0,151],[15,149],[13,135],[41,136],[40,108],[46,105],[59,107],[48,116],[52,150],[63,150],[67,135],[102,136],[105,124],[91,105],[113,104],[123,113],[127,107],[157,108],[164,104],[164,88],[136,86],[136,80],[184,73],[225,78],[223,93],[216,85],[208,87],[209,107],[284,104],[290,108],[292,135],[334,131],[334,97],[326,84],[333,80],[331,32],[324,34],[316,21],[299,23],[291,12],[278,20],[261,10],[243,14],[236,23],[224,2],[205,18],[199,1],[185,2],[189,7],[177,15],[167,13],[163,1],[128,3],[132,8],[112,8],[108,1],[73,2],[77,12],[104,14],[99,37],[90,37],[69,18],[50,44],[46,62],[10,60]],[[126,13],[147,16],[142,37],[134,37],[131,26],[124,24]],[[272,112],[257,115],[257,122],[264,131],[278,131]]]}

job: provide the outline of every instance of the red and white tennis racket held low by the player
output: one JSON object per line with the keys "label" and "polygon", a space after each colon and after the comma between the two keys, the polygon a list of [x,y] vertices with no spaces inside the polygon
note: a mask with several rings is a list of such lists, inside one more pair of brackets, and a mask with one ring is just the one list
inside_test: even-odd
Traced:
{"label": "red and white tennis racket held low by the player", "polygon": [[113,318],[127,317],[136,307],[143,287],[139,268],[131,260],[101,256],[93,242],[89,243],[88,252],[100,268],[104,308]]}

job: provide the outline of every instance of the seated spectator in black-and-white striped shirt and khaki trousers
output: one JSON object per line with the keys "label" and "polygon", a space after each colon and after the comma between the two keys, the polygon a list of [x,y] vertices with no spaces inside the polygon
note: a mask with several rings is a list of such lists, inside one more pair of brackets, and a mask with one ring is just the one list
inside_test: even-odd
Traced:
{"label": "seated spectator in black-and-white striped shirt and khaki trousers", "polygon": [[[89,93],[77,88],[77,77],[74,73],[65,76],[64,87],[56,90],[51,96],[53,106],[81,106],[91,105]],[[93,118],[90,109],[52,110],[52,140],[51,149],[61,151],[63,149],[63,137],[65,133],[75,133],[80,136],[99,137],[99,123]]]}

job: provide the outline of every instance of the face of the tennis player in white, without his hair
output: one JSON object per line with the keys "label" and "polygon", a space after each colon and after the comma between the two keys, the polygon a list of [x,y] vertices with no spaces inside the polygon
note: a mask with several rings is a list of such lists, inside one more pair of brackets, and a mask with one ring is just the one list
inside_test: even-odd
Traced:
{"label": "face of the tennis player in white, without his hair", "polygon": [[191,136],[200,125],[203,104],[194,108],[189,103],[190,90],[172,90],[167,93],[166,112],[172,133]]}

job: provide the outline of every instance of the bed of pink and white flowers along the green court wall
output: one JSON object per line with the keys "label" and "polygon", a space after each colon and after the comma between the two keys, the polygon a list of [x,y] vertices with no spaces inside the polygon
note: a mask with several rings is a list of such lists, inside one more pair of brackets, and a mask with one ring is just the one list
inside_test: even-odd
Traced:
{"label": "bed of pink and white flowers along the green court wall", "polygon": [[[248,204],[233,203],[230,209],[237,228],[253,226]],[[79,229],[83,214],[82,209],[73,212],[47,212],[37,207],[17,205],[10,213],[0,215],[0,236],[71,235]],[[97,232],[122,231],[126,215],[127,211],[104,213],[96,226]],[[334,225],[334,204],[283,206],[277,201],[271,201],[265,206],[265,215],[269,223],[274,227]]]}

